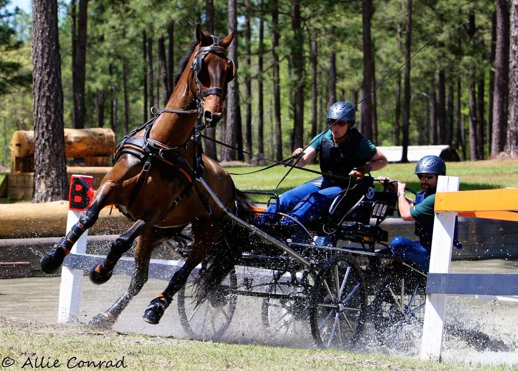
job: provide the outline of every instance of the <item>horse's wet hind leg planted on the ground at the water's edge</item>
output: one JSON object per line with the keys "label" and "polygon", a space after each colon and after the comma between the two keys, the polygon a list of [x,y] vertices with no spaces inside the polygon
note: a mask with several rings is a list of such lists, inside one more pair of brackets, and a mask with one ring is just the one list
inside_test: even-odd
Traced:
{"label": "horse's wet hind leg planted on the ground at the water's edge", "polygon": [[117,321],[122,311],[126,309],[133,297],[140,292],[147,282],[151,253],[155,247],[178,235],[182,229],[183,227],[170,229],[153,228],[144,231],[140,235],[135,248],[135,272],[130,281],[130,286],[109,309],[93,317],[90,320],[91,325],[109,328]]}

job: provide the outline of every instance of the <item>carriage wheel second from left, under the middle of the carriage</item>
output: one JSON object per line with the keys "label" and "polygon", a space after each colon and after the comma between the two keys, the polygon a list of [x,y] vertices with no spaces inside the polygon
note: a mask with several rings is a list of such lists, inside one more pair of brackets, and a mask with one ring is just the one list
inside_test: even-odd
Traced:
{"label": "carriage wheel second from left, under the middle of the carriage", "polygon": [[299,336],[307,331],[309,319],[309,295],[314,284],[314,276],[308,272],[278,271],[273,283],[268,287],[271,295],[263,300],[262,320],[267,328],[275,331],[281,338]]}

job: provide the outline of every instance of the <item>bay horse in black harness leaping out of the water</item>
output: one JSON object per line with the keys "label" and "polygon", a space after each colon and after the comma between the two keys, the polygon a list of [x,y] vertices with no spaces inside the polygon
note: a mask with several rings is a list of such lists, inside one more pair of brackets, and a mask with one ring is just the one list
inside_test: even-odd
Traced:
{"label": "bay horse in black harness leaping out of the water", "polygon": [[[231,176],[217,162],[201,154],[201,147],[194,140],[194,128],[198,118],[207,127],[214,127],[221,119],[227,83],[235,76],[234,63],[226,55],[233,37],[234,32],[218,39],[197,26],[196,40],[184,58],[183,71],[177,77],[165,109],[155,112],[153,120],[118,144],[116,162],[99,185],[92,204],[68,234],[41,259],[45,272],[59,270],[74,243],[93,226],[106,205],[117,205],[135,221],[112,243],[104,261],[90,272],[94,284],[105,283],[122,254],[140,236],[130,286],[91,323],[109,326],[117,320],[146,283],[153,248],[178,235],[186,225],[192,224],[192,251],[182,268],[171,277],[167,288],[146,308],[145,321],[159,323],[191,271],[207,259],[211,249],[221,245],[225,223],[220,222],[218,208],[213,207],[205,190],[196,186],[195,179],[203,177],[229,210],[236,209],[240,193]],[[225,255],[232,254],[222,251],[221,256]]]}

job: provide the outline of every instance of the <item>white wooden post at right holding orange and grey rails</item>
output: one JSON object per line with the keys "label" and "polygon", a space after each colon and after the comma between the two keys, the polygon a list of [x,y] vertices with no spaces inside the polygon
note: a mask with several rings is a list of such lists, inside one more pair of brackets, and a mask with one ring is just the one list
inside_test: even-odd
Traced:
{"label": "white wooden post at right holding orange and grey rails", "polygon": [[[439,176],[437,192],[458,191],[457,176]],[[449,273],[457,213],[436,213],[431,240],[430,273]],[[441,360],[447,295],[427,294],[421,343],[422,360]]]}

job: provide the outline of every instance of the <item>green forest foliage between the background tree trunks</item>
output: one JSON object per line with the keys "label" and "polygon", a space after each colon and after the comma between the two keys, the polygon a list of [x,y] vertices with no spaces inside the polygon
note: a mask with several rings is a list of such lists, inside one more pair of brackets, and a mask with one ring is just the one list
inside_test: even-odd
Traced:
{"label": "green forest foliage between the background tree trunks", "polygon": [[[5,7],[6,0],[0,0],[0,9]],[[260,4],[263,3],[261,7]],[[256,151],[257,140],[257,82],[264,83],[264,143],[265,155],[274,154],[274,112],[273,112],[273,75],[271,57],[271,2],[267,0],[250,0],[249,8],[246,2],[238,3],[238,83],[240,85],[241,102],[244,102],[244,77],[252,77],[252,151]],[[283,153],[291,153],[289,148],[293,123],[293,85],[294,74],[290,65],[290,56],[294,40],[292,29],[293,2],[279,0],[279,33],[280,46],[277,50],[280,59],[280,92],[281,92],[281,121]],[[381,83],[405,62],[404,45],[406,39],[406,6],[404,0],[381,1],[373,0],[374,13],[371,19],[371,38],[375,55],[376,83]],[[72,71],[71,71],[71,20],[69,2],[60,5],[60,52],[62,67],[62,83],[64,93],[65,126],[71,127],[71,112],[73,110]],[[214,1],[215,31],[214,34],[227,34],[227,3],[224,0]],[[462,120],[467,127],[468,117],[468,87],[473,73],[484,73],[486,80],[485,100],[488,101],[489,69],[491,68],[491,13],[494,2],[475,0],[470,2],[451,2],[434,0],[413,2],[411,53],[416,52],[430,40],[431,37],[449,31],[469,18],[474,13],[475,28],[470,34],[469,24],[463,25],[456,31],[435,38],[424,48],[411,63],[411,105],[410,105],[410,144],[427,144],[429,141],[429,106],[430,90],[435,86],[435,75],[438,69],[445,71],[447,91],[456,86],[457,79],[461,81],[462,90]],[[362,49],[362,2],[336,2],[331,0],[301,2],[301,17],[303,27],[303,48],[305,62],[304,76],[304,143],[311,140],[311,92],[310,92],[310,35],[316,33],[318,43],[318,125],[323,129],[327,105],[327,87],[329,83],[329,55],[336,53],[337,66],[337,99],[359,100],[363,81],[363,49]],[[251,69],[244,65],[244,33],[242,15],[248,12],[251,17]],[[5,11],[0,10],[0,14]],[[259,21],[264,20],[264,72],[257,73],[258,32]],[[195,25],[205,25],[205,1],[175,0],[156,2],[151,0],[125,0],[112,2],[108,0],[90,0],[88,2],[88,39],[87,39],[87,70],[86,70],[86,125],[97,126],[99,114],[99,92],[104,92],[104,126],[110,125],[113,117],[118,117],[118,126],[114,127],[118,138],[124,134],[124,99],[123,99],[123,62],[128,64],[128,110],[130,113],[130,128],[137,127],[146,118],[143,117],[143,81],[147,62],[142,53],[142,36],[145,32],[153,40],[153,58],[156,61],[156,40],[160,35],[166,37],[168,44],[167,26],[174,24],[174,65],[185,54],[191,40],[194,38]],[[397,25],[401,28],[401,46],[398,44]],[[7,28],[5,26],[7,25]],[[18,66],[19,73],[4,77],[4,68],[0,69],[0,94],[2,86],[8,86],[9,94],[0,97],[2,105],[0,112],[6,120],[6,135],[19,128],[32,128],[32,103],[30,90],[27,85],[20,87],[17,82],[30,76],[31,71],[31,22],[27,14],[18,12],[14,16],[0,18],[0,29],[6,29],[10,46],[17,46],[16,51],[7,51],[0,45],[0,62],[9,62],[7,67]],[[0,32],[0,34],[1,34]],[[3,35],[3,34],[2,34]],[[2,41],[3,42],[3,41]],[[163,107],[162,85],[157,71],[157,63],[153,63],[155,88],[153,94],[156,106]],[[403,70],[398,72],[402,81]],[[394,125],[396,107],[396,78],[392,77],[376,91],[378,140],[377,145],[394,144]],[[20,80],[22,79],[22,80]],[[4,85],[2,85],[4,84]],[[117,100],[117,110],[112,112],[112,102]],[[486,107],[488,105],[486,104]],[[244,115],[244,108],[241,109]],[[359,116],[359,114],[358,114]],[[484,113],[488,121],[488,110]],[[4,124],[4,123],[0,123]],[[222,126],[222,124],[220,124]],[[217,130],[220,139],[221,130]],[[10,137],[9,137],[10,138]],[[8,140],[7,140],[8,142]],[[3,149],[2,149],[3,150]],[[220,151],[220,149],[218,149]],[[2,152],[0,152],[0,156]],[[2,158],[4,158],[2,156]]]}

